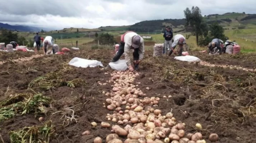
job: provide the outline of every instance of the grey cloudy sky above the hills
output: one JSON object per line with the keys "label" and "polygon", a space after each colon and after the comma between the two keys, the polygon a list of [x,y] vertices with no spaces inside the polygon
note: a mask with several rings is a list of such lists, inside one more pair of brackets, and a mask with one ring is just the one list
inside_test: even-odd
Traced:
{"label": "grey cloudy sky above the hills", "polygon": [[[3,1],[6,1],[3,3]],[[202,15],[256,13],[255,0],[0,0],[0,22],[63,29],[130,25],[143,20],[184,18],[186,7]]]}

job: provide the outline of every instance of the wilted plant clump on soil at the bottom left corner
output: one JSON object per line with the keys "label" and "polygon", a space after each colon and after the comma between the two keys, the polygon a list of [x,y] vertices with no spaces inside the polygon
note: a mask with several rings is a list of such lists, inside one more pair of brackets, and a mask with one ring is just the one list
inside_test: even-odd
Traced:
{"label": "wilted plant clump on soil at the bottom left corner", "polygon": [[11,131],[9,134],[11,143],[49,143],[57,135],[56,128],[51,121],[43,126],[24,127]]}

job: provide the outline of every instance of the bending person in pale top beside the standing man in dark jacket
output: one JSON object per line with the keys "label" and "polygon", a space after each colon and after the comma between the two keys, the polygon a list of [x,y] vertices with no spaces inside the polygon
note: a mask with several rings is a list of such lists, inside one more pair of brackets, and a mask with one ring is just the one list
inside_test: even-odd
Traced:
{"label": "bending person in pale top beside the standing man in dark jacket", "polygon": [[169,52],[169,56],[172,54],[172,52],[174,52],[174,54],[176,54],[176,52],[174,51],[175,47],[177,45],[179,45],[179,49],[178,49],[178,56],[182,55],[182,51],[183,51],[183,45],[186,43],[186,38],[181,35],[181,34],[176,34],[173,38],[173,43],[171,46],[171,50]]}

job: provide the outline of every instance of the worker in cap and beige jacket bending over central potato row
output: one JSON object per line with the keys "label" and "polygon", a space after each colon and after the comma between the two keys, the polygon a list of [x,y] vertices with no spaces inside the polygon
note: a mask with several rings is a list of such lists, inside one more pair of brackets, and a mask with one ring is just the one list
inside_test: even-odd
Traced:
{"label": "worker in cap and beige jacket bending over central potato row", "polygon": [[[132,52],[134,50],[134,52]],[[119,58],[124,53],[124,58],[126,61],[126,64],[129,67],[130,71],[138,70],[139,63],[144,57],[145,49],[144,49],[144,40],[141,36],[139,36],[137,33],[128,31],[121,35],[121,42],[119,45],[119,50],[117,51],[117,54],[113,57],[113,59],[110,61],[116,62],[119,60]],[[131,59],[133,54],[133,60]],[[132,61],[134,63],[134,66],[132,64]],[[109,65],[106,67],[110,67]]]}

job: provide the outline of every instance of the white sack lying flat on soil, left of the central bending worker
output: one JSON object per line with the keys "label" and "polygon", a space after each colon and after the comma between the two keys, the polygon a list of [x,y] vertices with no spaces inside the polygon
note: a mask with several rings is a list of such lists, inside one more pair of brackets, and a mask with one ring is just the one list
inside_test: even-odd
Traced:
{"label": "white sack lying flat on soil, left of the central bending worker", "polygon": [[71,66],[75,67],[82,67],[82,68],[87,68],[87,67],[95,67],[95,66],[101,66],[104,67],[103,64],[100,61],[97,60],[87,60],[87,59],[82,59],[78,57],[74,57],[69,61],[68,63]]}

